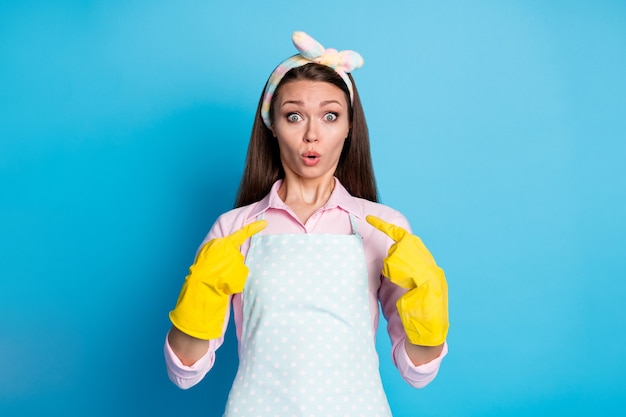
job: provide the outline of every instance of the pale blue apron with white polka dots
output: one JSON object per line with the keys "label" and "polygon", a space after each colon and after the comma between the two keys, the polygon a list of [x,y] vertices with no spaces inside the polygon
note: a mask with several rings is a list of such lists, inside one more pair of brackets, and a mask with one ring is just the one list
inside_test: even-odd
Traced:
{"label": "pale blue apron with white polka dots", "polygon": [[225,416],[388,417],[361,235],[255,235]]}

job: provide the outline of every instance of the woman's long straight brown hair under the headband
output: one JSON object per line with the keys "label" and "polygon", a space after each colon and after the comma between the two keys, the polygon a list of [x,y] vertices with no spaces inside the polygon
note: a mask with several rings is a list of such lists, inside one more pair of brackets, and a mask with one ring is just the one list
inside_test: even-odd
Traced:
{"label": "woman's long straight brown hair under the headband", "polygon": [[[350,74],[348,74],[348,77],[350,77],[354,92],[354,100],[349,112],[352,127],[341,152],[335,176],[351,195],[376,202],[378,201],[378,191],[374,177],[365,114],[363,113],[363,107],[361,106],[361,100],[354,80]],[[270,106],[270,117],[272,120],[274,119],[274,102],[280,94],[281,87],[297,80],[331,83],[344,92],[346,101],[350,104],[350,93],[343,79],[333,69],[325,65],[310,63],[292,68],[280,81]],[[235,207],[242,207],[261,200],[272,188],[274,182],[285,177],[285,171],[280,161],[278,141],[274,138],[272,131],[265,126],[261,118],[262,101],[263,95],[261,94],[254,124],[252,125],[246,164],[241,183],[239,184]]]}

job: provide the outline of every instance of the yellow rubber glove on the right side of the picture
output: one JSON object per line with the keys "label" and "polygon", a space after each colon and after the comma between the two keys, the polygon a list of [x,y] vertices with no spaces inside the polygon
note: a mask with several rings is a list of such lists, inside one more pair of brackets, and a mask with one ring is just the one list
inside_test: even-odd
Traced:
{"label": "yellow rubber glove on the right side of the picture", "polygon": [[396,306],[414,345],[438,346],[448,334],[448,284],[421,239],[399,226],[367,216],[369,224],[394,240],[383,263],[383,275],[408,288]]}

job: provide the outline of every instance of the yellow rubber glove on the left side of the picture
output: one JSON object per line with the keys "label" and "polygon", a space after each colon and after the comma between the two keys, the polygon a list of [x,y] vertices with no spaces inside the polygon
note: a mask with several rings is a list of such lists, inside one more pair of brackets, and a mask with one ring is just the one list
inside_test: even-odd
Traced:
{"label": "yellow rubber glove on the left side of the picture", "polygon": [[242,292],[248,277],[239,247],[265,226],[265,220],[250,223],[202,247],[189,268],[176,307],[170,312],[170,320],[177,329],[203,340],[222,335],[228,296]]}

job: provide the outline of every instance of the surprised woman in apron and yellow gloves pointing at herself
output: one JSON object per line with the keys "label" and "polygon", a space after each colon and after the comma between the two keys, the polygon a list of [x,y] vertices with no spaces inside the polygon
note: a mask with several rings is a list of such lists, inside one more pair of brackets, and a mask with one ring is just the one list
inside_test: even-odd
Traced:
{"label": "surprised woman in apron and yellow gloves pointing at herself", "polygon": [[[353,51],[296,32],[270,76],[237,203],[190,268],[165,344],[181,388],[199,382],[232,304],[240,364],[227,416],[390,416],[378,373],[378,305],[414,387],[447,352],[443,271],[404,216],[378,204]],[[245,263],[244,263],[245,259]]]}

